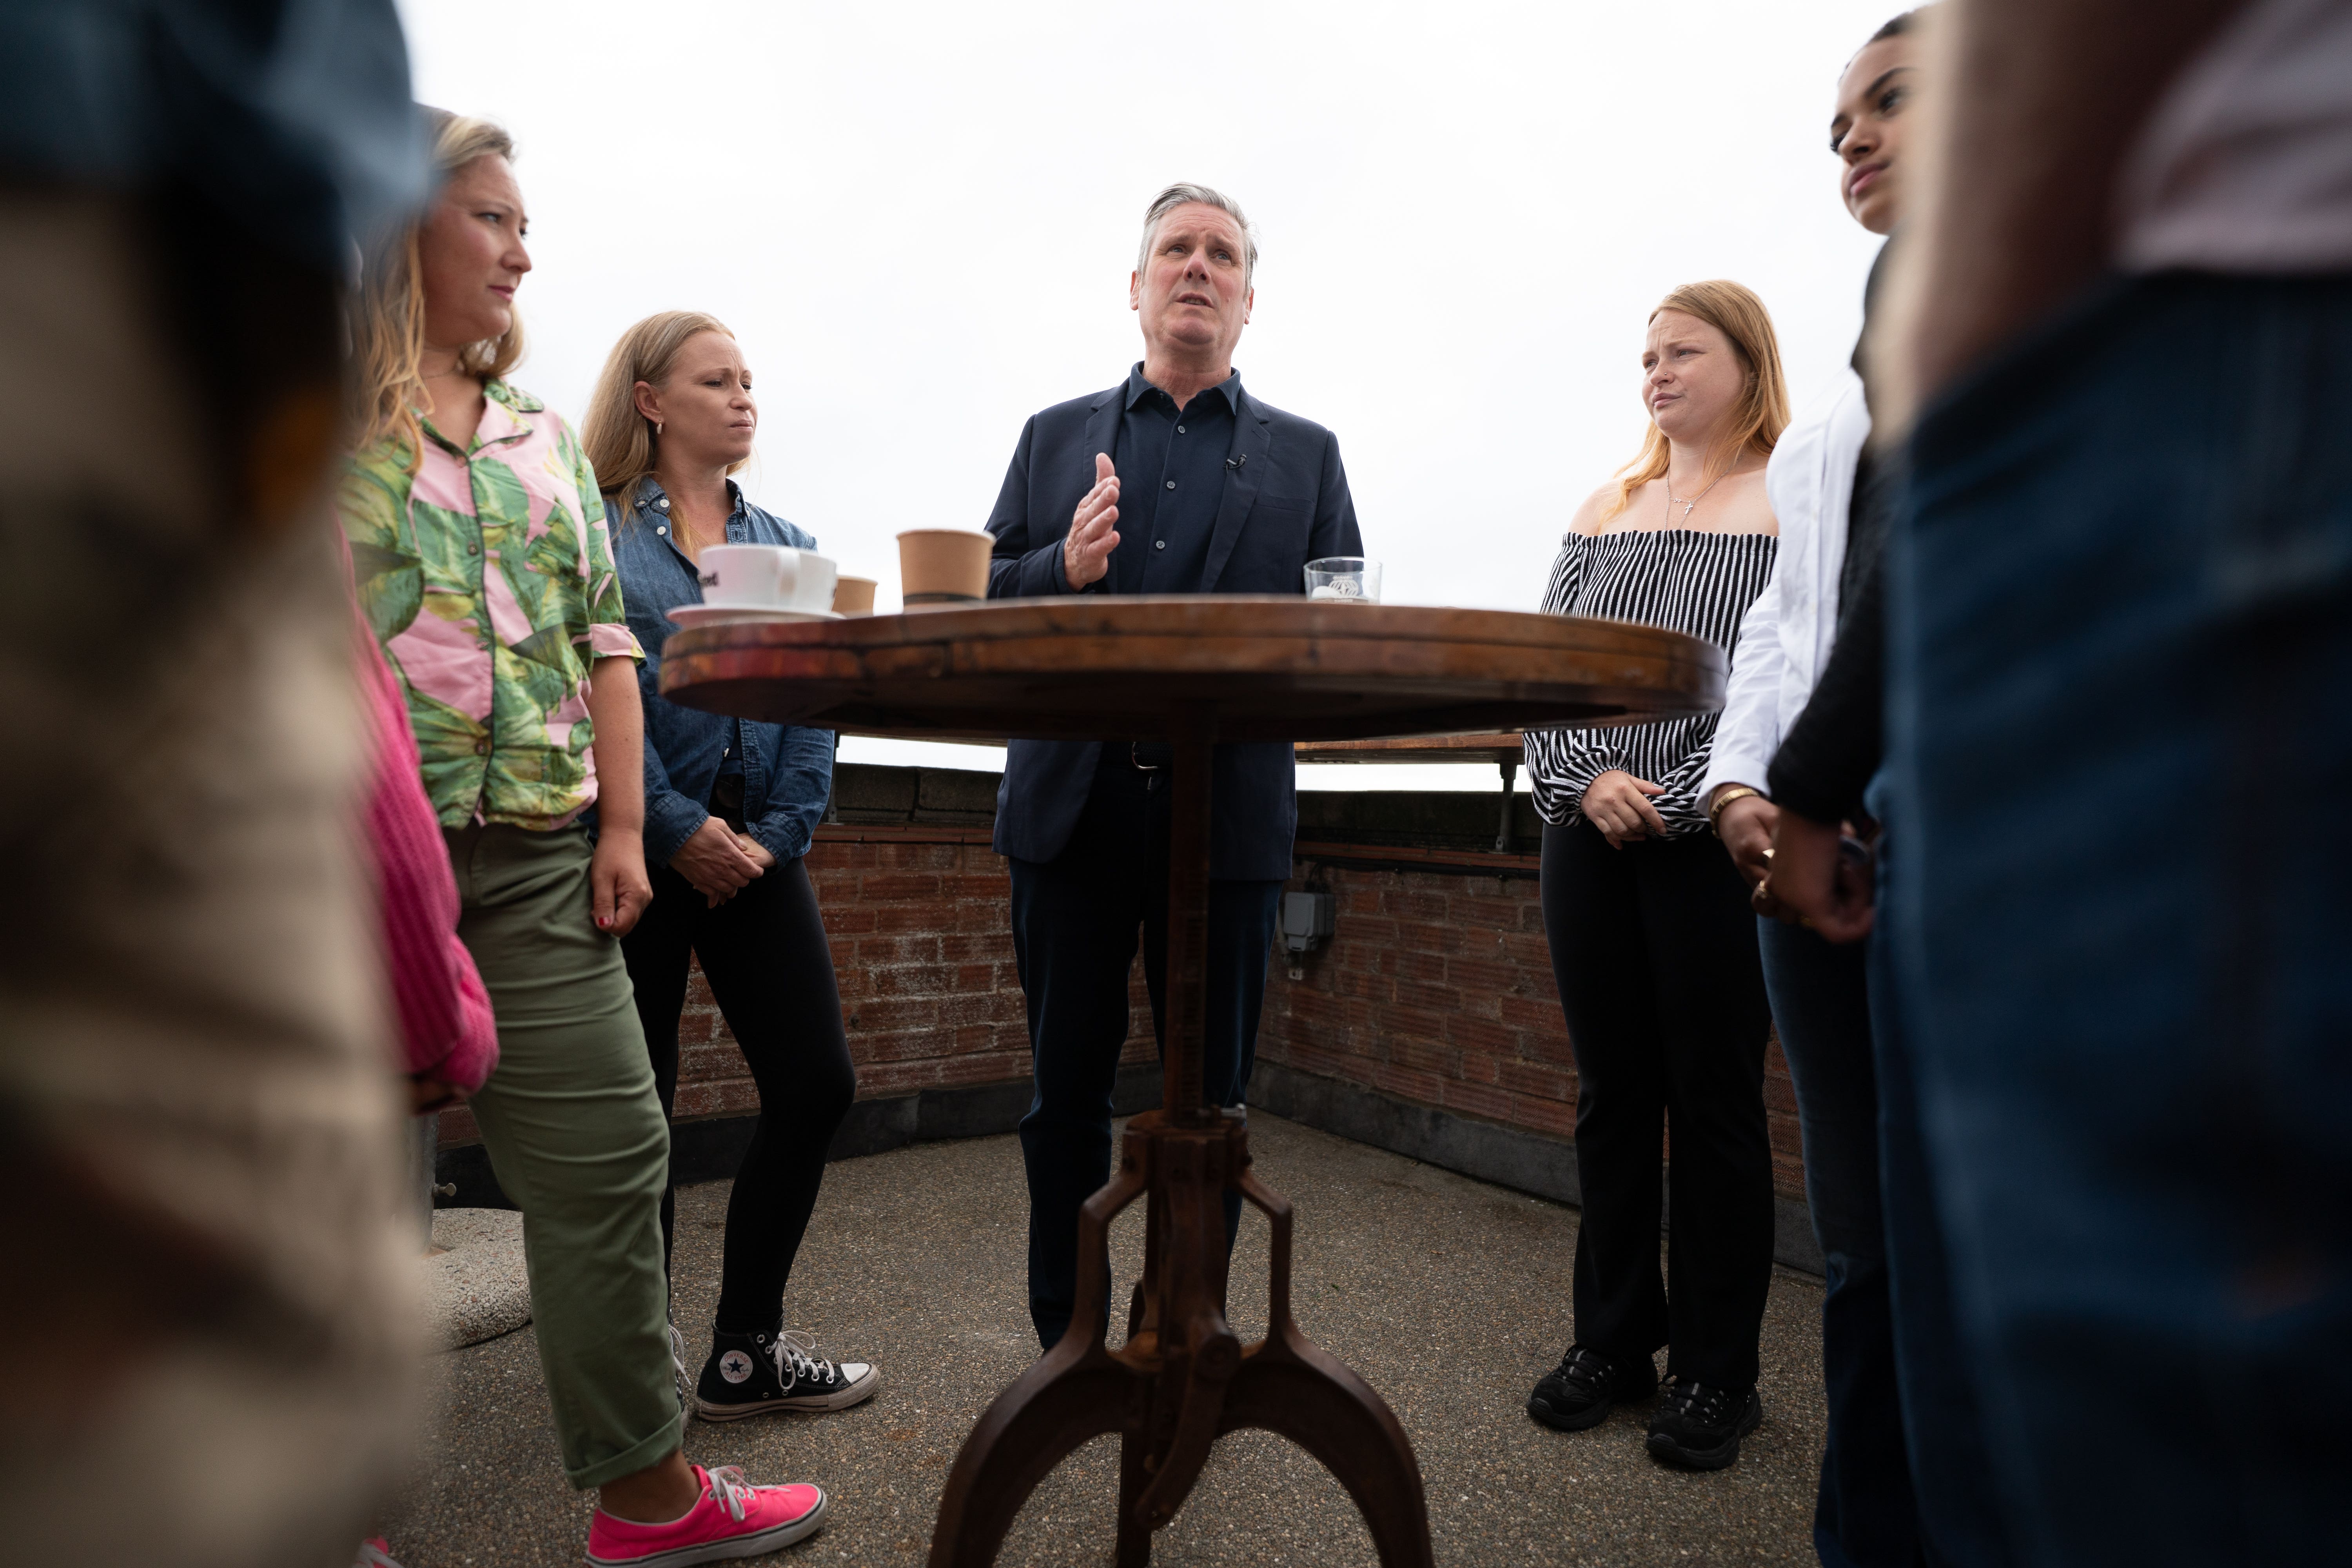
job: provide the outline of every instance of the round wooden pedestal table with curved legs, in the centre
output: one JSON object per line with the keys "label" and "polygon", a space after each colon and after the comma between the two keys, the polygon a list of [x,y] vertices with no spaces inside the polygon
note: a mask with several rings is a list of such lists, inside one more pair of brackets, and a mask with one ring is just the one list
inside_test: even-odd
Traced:
{"label": "round wooden pedestal table with curved legs, in the centre", "polygon": [[[1312,1453],[1355,1497],[1381,1561],[1428,1568],[1404,1427],[1298,1331],[1291,1206],[1251,1171],[1242,1114],[1202,1105],[1209,748],[1708,712],[1722,705],[1722,651],[1646,625],[1494,609],[1070,595],[703,625],[670,637],[661,691],[710,712],[858,733],[1174,745],[1160,1110],[1127,1124],[1120,1168],[1080,1215],[1070,1333],[997,1396],[948,1472],[934,1568],[993,1563],[1030,1490],[1105,1432],[1122,1434],[1117,1563],[1138,1568],[1209,1446],[1240,1427]],[[1254,1345],[1225,1324],[1228,1187],[1272,1225],[1270,1328]],[[1143,1279],[1127,1342],[1108,1349],[1105,1237],[1138,1197],[1150,1206]]]}

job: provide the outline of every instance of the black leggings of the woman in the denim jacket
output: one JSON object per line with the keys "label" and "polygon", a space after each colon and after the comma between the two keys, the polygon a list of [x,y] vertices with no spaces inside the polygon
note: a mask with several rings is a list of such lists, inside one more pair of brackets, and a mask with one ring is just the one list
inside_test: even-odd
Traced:
{"label": "black leggings of the woman in the denim jacket", "polygon": [[[656,867],[654,903],[621,938],[621,954],[637,987],[637,1020],[663,1114],[677,1103],[677,1016],[687,1006],[689,954],[701,957],[710,994],[760,1086],[760,1124],[727,1199],[717,1328],[774,1333],[783,1321],[793,1255],[826,1180],[826,1152],[858,1091],[809,870],[797,858],[779,860],[713,910],[684,877]],[[661,1194],[663,1265],[675,1215],[673,1182]]]}

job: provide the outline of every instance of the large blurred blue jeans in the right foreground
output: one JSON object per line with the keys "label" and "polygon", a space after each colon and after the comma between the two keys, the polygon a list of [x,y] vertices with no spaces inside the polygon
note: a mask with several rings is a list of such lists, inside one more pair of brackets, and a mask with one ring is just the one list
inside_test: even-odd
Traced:
{"label": "large blurred blue jeans in the right foreground", "polygon": [[2164,275],[1915,435],[1886,905],[2030,1563],[2343,1552],[2347,430],[2352,277]]}

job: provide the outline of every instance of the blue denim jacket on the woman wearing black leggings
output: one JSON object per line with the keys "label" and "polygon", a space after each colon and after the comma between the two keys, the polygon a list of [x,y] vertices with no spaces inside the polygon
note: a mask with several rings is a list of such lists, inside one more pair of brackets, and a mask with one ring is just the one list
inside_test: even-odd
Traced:
{"label": "blue denim jacket on the woman wearing black leggings", "polygon": [[[816,548],[807,531],[746,501],[734,480],[727,494],[734,498],[727,543]],[[628,630],[644,646],[637,668],[644,693],[644,858],[666,865],[710,818],[710,785],[724,752],[736,745],[736,731],[743,745],[743,825],[779,860],[809,853],[809,837],[833,795],[833,731],[729,719],[661,696],[659,649],[677,630],[668,611],[701,604],[703,588],[694,562],[670,541],[670,498],[652,475],[637,482],[633,496],[609,503]]]}

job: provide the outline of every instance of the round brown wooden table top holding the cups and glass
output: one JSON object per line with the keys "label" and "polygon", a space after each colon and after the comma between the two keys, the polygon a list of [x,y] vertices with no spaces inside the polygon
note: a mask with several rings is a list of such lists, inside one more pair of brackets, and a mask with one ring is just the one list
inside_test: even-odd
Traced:
{"label": "round brown wooden table top holding the cups and glass", "polygon": [[1294,595],[1070,595],[727,623],[661,656],[673,703],[870,736],[1369,741],[1712,712],[1724,654],[1651,625]]}

